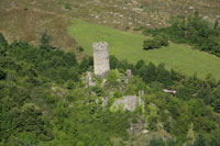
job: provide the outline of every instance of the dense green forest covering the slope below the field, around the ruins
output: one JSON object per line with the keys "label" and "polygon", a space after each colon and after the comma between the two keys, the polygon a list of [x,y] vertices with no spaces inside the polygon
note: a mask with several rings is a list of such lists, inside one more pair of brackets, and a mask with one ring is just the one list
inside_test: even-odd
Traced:
{"label": "dense green forest covering the slope below the field, around the ruins", "polygon": [[[88,87],[85,74],[92,71],[92,57],[78,63],[50,41],[44,33],[38,47],[8,44],[0,34],[0,145],[132,145],[138,139],[128,128],[141,120],[150,133],[163,128],[170,137],[155,135],[142,145],[220,145],[220,82],[211,76],[200,80],[163,64],[132,65],[110,56],[107,82],[95,78],[98,83]],[[129,82],[118,81],[127,69],[133,74]],[[114,100],[139,91],[144,91],[144,106],[110,110]],[[107,106],[102,97],[110,98]]]}

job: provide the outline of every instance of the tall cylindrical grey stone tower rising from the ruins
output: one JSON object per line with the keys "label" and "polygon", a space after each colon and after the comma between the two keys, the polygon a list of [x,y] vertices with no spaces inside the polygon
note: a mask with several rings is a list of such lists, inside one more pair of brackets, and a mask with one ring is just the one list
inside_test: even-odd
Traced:
{"label": "tall cylindrical grey stone tower rising from the ruins", "polygon": [[95,74],[101,78],[110,71],[108,43],[94,43],[94,66]]}

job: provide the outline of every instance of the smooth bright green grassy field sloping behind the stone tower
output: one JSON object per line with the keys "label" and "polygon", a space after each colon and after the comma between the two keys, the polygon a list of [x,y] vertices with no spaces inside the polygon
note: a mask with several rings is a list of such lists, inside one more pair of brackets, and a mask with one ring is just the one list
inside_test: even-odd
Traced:
{"label": "smooth bright green grassy field sloping behind the stone tower", "polygon": [[145,36],[81,20],[74,20],[68,32],[89,55],[92,55],[94,42],[105,41],[109,43],[109,54],[116,55],[120,59],[127,59],[134,64],[140,59],[154,64],[164,63],[168,69],[173,68],[186,75],[197,74],[198,77],[205,78],[211,74],[216,79],[220,79],[220,58],[191,49],[187,45],[170,44],[161,49],[143,50],[142,44]]}

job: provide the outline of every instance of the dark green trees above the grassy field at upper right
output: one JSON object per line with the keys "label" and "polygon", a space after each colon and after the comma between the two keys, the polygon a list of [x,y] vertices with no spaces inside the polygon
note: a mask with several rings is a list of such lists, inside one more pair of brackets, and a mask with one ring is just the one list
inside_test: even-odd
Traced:
{"label": "dark green trees above the grassy field at upper right", "polygon": [[145,35],[166,35],[175,43],[187,43],[195,48],[208,52],[220,57],[220,27],[219,20],[209,23],[199,12],[193,16],[178,15],[170,19],[170,26],[163,29],[144,29]]}

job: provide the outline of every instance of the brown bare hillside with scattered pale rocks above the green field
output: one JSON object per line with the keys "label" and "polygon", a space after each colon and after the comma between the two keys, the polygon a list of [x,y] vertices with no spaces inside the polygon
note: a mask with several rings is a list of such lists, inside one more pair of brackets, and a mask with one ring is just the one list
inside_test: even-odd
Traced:
{"label": "brown bare hillside with scattered pale rocks above the green field", "polygon": [[78,44],[67,33],[74,18],[120,30],[129,26],[132,32],[138,26],[166,26],[170,15],[195,10],[211,22],[220,18],[217,0],[1,0],[0,32],[9,42],[37,45],[46,31],[54,46],[74,52]]}

